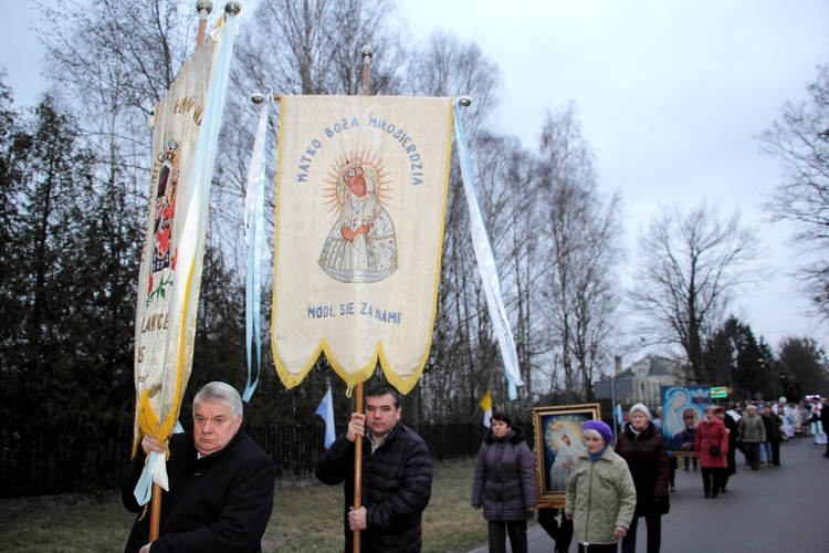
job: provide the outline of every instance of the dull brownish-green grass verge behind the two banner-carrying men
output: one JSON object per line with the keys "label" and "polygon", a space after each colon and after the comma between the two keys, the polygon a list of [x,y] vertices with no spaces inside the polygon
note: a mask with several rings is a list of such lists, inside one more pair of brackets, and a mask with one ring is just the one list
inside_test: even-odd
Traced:
{"label": "dull brownish-green grass verge behind the two banner-carrying men", "polygon": [[[424,552],[463,552],[486,543],[481,511],[470,507],[473,459],[436,461],[432,499],[423,513]],[[0,550],[120,552],[134,515],[119,493],[0,500]],[[343,487],[313,477],[276,481],[273,514],[262,550],[343,551]]]}

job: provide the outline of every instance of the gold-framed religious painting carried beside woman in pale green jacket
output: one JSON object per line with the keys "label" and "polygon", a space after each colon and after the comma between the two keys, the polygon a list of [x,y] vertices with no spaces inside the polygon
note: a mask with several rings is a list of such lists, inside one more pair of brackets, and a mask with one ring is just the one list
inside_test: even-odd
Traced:
{"label": "gold-framed religious painting carried beside woman in pale green jacket", "polygon": [[599,404],[533,409],[538,507],[564,508],[573,461],[585,449],[581,430],[600,415]]}

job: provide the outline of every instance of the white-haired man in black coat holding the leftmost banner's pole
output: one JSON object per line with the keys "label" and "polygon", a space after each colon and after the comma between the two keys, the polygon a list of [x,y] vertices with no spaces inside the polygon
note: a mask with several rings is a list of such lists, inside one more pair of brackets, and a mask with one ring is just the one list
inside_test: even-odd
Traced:
{"label": "white-haired man in black coat holding the leftmost banner's pole", "polygon": [[242,399],[228,384],[213,382],[193,398],[193,429],[159,445],[141,439],[127,468],[122,501],[143,512],[134,490],[153,451],[167,461],[169,492],[161,500],[159,536],[149,542],[149,513],[139,514],[125,551],[260,552],[273,509],[274,469],[267,455],[241,429]]}

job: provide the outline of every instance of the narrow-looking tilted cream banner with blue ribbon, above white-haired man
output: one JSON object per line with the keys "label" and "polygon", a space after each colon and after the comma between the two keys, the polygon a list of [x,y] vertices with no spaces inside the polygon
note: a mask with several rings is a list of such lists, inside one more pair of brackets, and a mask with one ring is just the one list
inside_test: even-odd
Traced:
{"label": "narrow-looking tilted cream banner with blue ribbon, above white-haired man", "polygon": [[[235,18],[210,33],[156,106],[147,230],[135,330],[136,444],[167,439],[192,367],[210,180]],[[164,459],[148,459],[167,489]],[[145,469],[146,472],[146,469]],[[148,481],[139,482],[144,488]],[[149,488],[139,502],[148,501]],[[136,488],[136,497],[139,497]]]}

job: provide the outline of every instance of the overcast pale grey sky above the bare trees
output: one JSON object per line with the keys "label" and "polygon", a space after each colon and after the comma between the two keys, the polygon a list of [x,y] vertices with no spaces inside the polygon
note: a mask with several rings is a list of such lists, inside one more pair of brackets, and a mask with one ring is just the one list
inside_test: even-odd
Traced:
{"label": "overcast pale grey sky above the bare trees", "polygon": [[[252,6],[242,3],[243,10]],[[4,4],[0,64],[18,105],[31,104],[45,87],[30,30],[33,2]],[[787,335],[827,342],[826,330],[804,315],[807,304],[788,276],[801,261],[786,243],[789,231],[765,222],[760,204],[779,181],[780,168],[759,154],[756,136],[786,101],[806,98],[816,66],[829,62],[829,1],[401,0],[399,6],[414,40],[448,31],[478,43],[499,65],[500,131],[525,146],[534,145],[548,109],[575,102],[596,148],[601,188],[623,196],[631,248],[638,227],[662,205],[691,208],[705,200],[724,215],[739,208],[743,221],[760,229],[776,270],[739,299],[738,314],[774,346]],[[630,255],[634,259],[633,250]]]}

